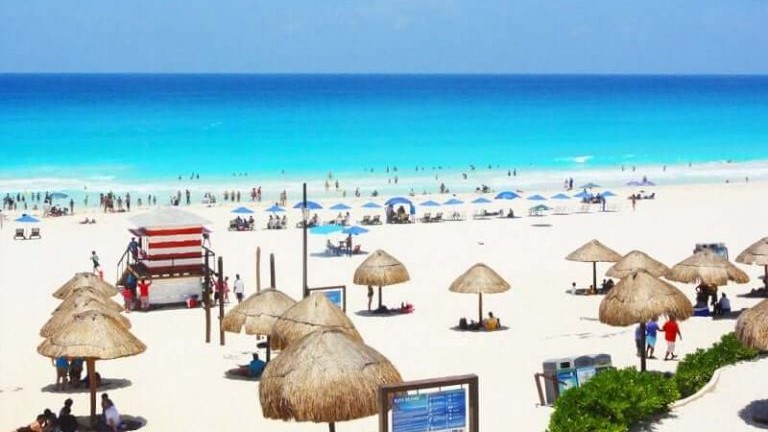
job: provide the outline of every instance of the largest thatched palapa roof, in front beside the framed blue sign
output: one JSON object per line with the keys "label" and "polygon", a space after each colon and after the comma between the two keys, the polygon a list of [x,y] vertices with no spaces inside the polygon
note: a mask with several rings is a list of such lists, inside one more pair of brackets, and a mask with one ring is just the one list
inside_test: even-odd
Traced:
{"label": "largest thatched palapa roof, in front beside the framed blue sign", "polygon": [[375,349],[336,330],[318,331],[267,364],[259,400],[267,418],[331,423],[376,414],[379,386],[399,382]]}

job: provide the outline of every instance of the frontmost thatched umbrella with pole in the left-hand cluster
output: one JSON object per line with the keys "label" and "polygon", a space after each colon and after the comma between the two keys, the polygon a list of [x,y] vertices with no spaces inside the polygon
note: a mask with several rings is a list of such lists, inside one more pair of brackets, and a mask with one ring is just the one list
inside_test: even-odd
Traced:
{"label": "frontmost thatched umbrella with pole in the left-hand cluster", "polygon": [[91,417],[96,416],[96,360],[110,360],[141,354],[147,349],[125,326],[100,311],[78,315],[37,347],[46,357],[83,357],[88,369]]}

